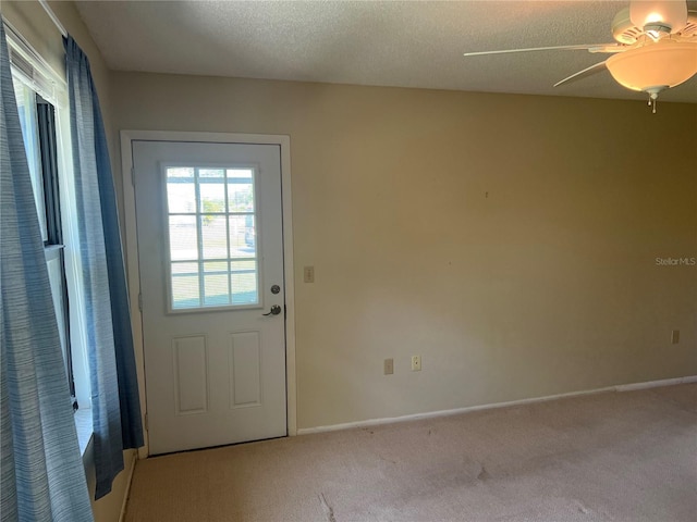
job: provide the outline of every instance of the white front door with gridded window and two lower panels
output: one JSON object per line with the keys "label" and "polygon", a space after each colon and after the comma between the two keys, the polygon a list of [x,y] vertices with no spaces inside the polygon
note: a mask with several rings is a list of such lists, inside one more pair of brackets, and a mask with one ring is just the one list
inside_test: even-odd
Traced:
{"label": "white front door with gridded window and two lower panels", "polygon": [[150,455],[286,435],[280,146],[132,147]]}

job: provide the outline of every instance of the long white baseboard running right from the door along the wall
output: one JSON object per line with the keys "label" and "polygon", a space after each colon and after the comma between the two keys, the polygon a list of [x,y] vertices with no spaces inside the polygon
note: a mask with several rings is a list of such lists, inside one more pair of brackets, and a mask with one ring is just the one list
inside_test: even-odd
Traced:
{"label": "long white baseboard running right from the door along the wall", "polygon": [[369,419],[367,421],[346,422],[342,424],[331,424],[328,426],[301,427],[297,430],[298,435],[309,435],[313,433],[335,432],[339,430],[350,430],[353,427],[377,426],[380,424],[393,424],[396,422],[418,421],[421,419],[433,419],[437,417],[456,415],[460,413],[468,413],[472,411],[493,410],[496,408],[508,408],[511,406],[531,405],[535,402],[545,402],[548,400],[563,399],[568,397],[579,397],[584,395],[602,394],[607,391],[633,391],[637,389],[657,388],[660,386],[674,386],[676,384],[697,383],[697,375],[686,377],[664,378],[661,381],[650,381],[647,383],[620,384],[616,386],[607,386],[604,388],[586,389],[580,391],[570,391],[566,394],[548,395],[545,397],[534,397],[530,399],[511,400],[508,402],[493,402],[490,405],[468,406],[465,408],[456,408],[454,410],[429,411],[426,413],[415,413],[412,415],[390,417],[384,419]]}

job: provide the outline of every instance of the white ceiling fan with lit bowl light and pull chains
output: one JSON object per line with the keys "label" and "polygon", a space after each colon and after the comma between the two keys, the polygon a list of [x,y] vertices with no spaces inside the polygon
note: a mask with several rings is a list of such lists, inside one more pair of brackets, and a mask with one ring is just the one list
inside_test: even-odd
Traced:
{"label": "white ceiling fan with lit bowl light and pull chains", "polygon": [[534,47],[501,51],[466,52],[465,57],[548,50],[587,50],[611,57],[554,84],[580,79],[606,69],[627,89],[649,95],[653,105],[659,92],[697,74],[697,11],[683,0],[632,0],[612,21],[614,44]]}

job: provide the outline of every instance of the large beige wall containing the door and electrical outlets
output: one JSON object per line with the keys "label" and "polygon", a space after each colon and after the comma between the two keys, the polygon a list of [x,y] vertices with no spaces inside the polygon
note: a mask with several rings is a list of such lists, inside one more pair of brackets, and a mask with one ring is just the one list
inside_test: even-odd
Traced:
{"label": "large beige wall containing the door and electrical outlets", "polygon": [[114,129],[291,136],[298,427],[697,373],[696,105],[112,80]]}

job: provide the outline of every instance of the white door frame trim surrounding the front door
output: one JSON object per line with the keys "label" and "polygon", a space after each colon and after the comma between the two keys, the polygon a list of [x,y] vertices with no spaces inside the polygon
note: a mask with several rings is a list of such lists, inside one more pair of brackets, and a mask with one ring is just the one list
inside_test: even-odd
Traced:
{"label": "white door frame trim surrounding the front door", "polygon": [[281,149],[281,203],[283,206],[283,277],[285,279],[285,401],[289,436],[297,435],[297,396],[295,381],[295,291],[293,271],[293,212],[291,198],[291,138],[285,135],[197,133],[174,130],[121,130],[121,172],[124,204],[125,263],[131,302],[131,324],[135,348],[136,371],[140,395],[140,411],[145,428],[145,446],[138,457],[149,455],[147,402],[145,400],[145,353],[143,351],[143,315],[138,306],[140,272],[135,213],[135,179],[133,141],[192,141],[213,144],[278,145]]}

